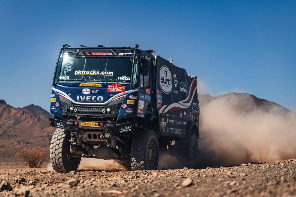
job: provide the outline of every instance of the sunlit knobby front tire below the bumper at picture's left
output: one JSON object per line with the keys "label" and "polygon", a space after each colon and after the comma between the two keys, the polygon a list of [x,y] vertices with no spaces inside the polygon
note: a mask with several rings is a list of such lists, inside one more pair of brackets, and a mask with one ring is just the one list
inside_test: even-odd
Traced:
{"label": "sunlit knobby front tire below the bumper at picture's left", "polygon": [[56,172],[67,173],[77,170],[81,158],[70,156],[70,133],[57,129],[50,144],[50,162]]}

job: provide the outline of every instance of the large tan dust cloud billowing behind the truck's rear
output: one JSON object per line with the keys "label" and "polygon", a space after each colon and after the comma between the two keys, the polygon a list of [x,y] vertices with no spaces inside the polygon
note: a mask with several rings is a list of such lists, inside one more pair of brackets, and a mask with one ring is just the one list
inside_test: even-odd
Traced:
{"label": "large tan dust cloud billowing behind the truck's rear", "polygon": [[[231,102],[229,101],[231,100]],[[202,167],[296,158],[296,115],[280,108],[242,113],[235,98],[200,105]]]}

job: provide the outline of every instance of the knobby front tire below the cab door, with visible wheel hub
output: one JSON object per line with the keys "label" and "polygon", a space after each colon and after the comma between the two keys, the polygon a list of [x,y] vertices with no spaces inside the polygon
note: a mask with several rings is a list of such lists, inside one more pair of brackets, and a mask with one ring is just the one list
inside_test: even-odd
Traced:
{"label": "knobby front tire below the cab door, with visible wheel hub", "polygon": [[159,144],[154,131],[139,130],[131,144],[131,170],[156,170]]}

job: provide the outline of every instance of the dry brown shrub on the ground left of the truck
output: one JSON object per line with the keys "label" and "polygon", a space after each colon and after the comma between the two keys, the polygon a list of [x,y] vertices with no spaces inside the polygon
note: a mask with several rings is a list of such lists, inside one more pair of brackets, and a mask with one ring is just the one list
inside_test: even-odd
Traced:
{"label": "dry brown shrub on the ground left of the truck", "polygon": [[47,148],[35,146],[32,148],[23,148],[18,151],[15,156],[29,167],[40,168],[42,164],[48,159],[48,154],[49,151]]}

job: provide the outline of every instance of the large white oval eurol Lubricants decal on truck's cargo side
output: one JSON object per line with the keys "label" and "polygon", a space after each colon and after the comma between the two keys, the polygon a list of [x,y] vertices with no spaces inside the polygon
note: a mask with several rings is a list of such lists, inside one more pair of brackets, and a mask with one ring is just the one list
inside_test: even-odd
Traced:
{"label": "large white oval eurol Lubricants decal on truck's cargo side", "polygon": [[159,70],[159,85],[165,94],[172,91],[172,74],[168,66],[162,66]]}

